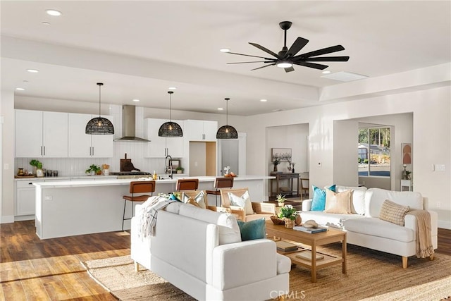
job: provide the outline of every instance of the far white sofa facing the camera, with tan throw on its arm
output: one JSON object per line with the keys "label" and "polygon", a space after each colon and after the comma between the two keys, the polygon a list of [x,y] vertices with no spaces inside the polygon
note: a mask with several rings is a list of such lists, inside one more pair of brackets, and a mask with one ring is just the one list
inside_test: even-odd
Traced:
{"label": "far white sofa facing the camera, with tan throw on its arm", "polygon": [[[379,188],[345,187],[336,185],[335,191],[354,190],[352,195],[352,214],[330,214],[323,211],[311,211],[311,199],[302,202],[300,212],[302,221],[309,219],[326,226],[347,231],[347,243],[368,247],[373,250],[402,256],[402,267],[407,268],[407,257],[416,254],[416,217],[406,214],[404,226],[379,219],[385,199],[409,206],[411,209],[428,210],[427,198],[419,192],[400,192]],[[437,213],[431,214],[431,238],[437,249]],[[432,259],[433,257],[431,257]]]}

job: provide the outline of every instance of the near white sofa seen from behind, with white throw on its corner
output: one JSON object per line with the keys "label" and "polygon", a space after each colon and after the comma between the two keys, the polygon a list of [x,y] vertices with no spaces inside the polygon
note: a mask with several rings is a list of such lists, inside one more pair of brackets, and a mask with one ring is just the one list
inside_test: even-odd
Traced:
{"label": "near white sofa seen from behind, with white throw on its corner", "polygon": [[268,300],[288,293],[290,259],[277,254],[272,240],[242,242],[232,215],[171,203],[158,212],[155,236],[142,239],[139,214],[137,205],[135,269],[140,264],[197,300]]}

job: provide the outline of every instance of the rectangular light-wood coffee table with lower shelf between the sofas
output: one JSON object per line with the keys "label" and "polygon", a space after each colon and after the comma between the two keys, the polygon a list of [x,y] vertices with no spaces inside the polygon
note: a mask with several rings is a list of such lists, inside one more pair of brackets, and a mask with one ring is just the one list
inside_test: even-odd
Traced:
{"label": "rectangular light-wood coffee table with lower shelf between the sofas", "polygon": [[[328,228],[328,231],[321,233],[304,233],[291,228],[285,228],[284,225],[274,225],[272,221],[266,221],[266,235],[268,238],[281,238],[284,240],[292,240],[300,242],[311,247],[311,260],[296,257],[297,252],[285,254],[290,257],[292,264],[305,266],[311,269],[311,282],[316,282],[316,270],[333,264],[342,264],[342,273],[346,274],[346,232],[335,228]],[[324,258],[316,260],[316,247],[320,245],[328,245],[332,242],[342,243],[342,256],[335,257],[329,254],[323,254]],[[300,252],[303,252],[302,250]]]}

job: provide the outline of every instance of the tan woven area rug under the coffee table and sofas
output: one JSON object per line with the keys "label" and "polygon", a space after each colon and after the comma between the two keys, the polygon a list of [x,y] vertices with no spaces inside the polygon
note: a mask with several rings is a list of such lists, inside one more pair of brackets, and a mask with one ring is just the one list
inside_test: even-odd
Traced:
{"label": "tan woven area rug under the coffee table and sofas", "polygon": [[[321,248],[340,254],[341,245]],[[150,271],[135,272],[129,256],[82,262],[88,273],[119,300],[194,300]],[[287,300],[444,300],[451,295],[451,257],[435,259],[409,257],[402,269],[401,257],[348,245],[347,274],[341,265],[317,272],[311,283],[310,271],[292,266]]]}

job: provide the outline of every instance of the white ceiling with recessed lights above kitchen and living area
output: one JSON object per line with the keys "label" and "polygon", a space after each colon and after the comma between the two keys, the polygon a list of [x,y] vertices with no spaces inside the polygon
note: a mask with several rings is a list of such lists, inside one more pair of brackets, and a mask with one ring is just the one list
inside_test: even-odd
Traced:
{"label": "white ceiling with recessed lights above kitchen and living area", "polygon": [[345,47],[332,55],[350,60],[326,63],[331,73],[377,78],[451,61],[451,1],[2,0],[1,87],[98,102],[104,82],[102,103],[167,109],[175,86],[173,109],[221,113],[230,97],[229,113],[242,116],[318,105],[321,89],[344,84],[302,66],[251,71],[263,64],[230,65],[253,59],[219,51],[266,56],[254,42],[278,52],[283,20],[292,21],[288,47],[309,39],[299,53]]}

